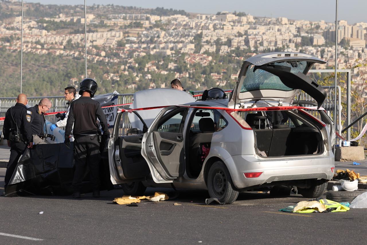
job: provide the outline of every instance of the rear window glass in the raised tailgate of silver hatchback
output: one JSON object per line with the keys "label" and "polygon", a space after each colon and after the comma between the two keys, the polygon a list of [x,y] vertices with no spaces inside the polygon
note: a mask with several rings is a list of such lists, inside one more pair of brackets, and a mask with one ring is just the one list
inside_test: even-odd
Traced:
{"label": "rear window glass in the raised tailgate of silver hatchback", "polygon": [[[306,61],[298,61],[297,67],[292,67],[289,61],[277,62],[276,65],[288,66],[291,68],[291,72],[297,74],[298,72],[304,72],[307,66]],[[254,65],[250,65],[247,68],[246,75],[241,87],[241,93],[260,90],[260,89],[274,89],[282,91],[291,91],[290,87],[284,85],[279,77],[269,73],[267,71],[256,69],[254,72]]]}

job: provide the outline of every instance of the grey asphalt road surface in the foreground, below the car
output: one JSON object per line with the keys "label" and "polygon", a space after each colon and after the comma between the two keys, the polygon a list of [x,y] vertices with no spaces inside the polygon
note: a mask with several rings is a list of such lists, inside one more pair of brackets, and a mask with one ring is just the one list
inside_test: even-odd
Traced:
{"label": "grey asphalt road surface in the foreground, below the car", "polygon": [[[4,174],[0,168],[1,186]],[[148,188],[146,195],[154,191]],[[279,212],[308,199],[257,192],[240,194],[231,205],[206,206],[207,191],[179,192],[178,199],[142,201],[137,207],[112,203],[122,190],[81,199],[0,196],[0,244],[363,244],[367,239],[367,209]]]}

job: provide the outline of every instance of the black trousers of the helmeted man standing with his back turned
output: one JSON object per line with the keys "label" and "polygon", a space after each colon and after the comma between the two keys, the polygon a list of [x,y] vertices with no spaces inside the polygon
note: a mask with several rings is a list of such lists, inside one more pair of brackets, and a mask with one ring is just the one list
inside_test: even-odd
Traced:
{"label": "black trousers of the helmeted man standing with his back turned", "polygon": [[90,182],[93,190],[99,190],[99,142],[97,136],[75,136],[74,140],[75,173],[72,187],[74,191],[80,191],[83,181],[84,169],[88,164],[90,170]]}

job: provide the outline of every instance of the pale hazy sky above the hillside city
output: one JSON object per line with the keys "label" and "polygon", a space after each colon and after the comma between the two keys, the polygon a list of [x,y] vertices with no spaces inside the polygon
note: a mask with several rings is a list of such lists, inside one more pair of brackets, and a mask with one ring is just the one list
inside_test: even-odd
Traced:
{"label": "pale hazy sky above the hillside city", "polygon": [[[25,0],[42,4],[84,4],[83,0]],[[142,8],[173,8],[186,12],[216,14],[219,11],[246,12],[260,17],[287,17],[289,19],[306,19],[310,21],[335,21],[336,0],[86,0],[87,5],[115,4]],[[338,19],[349,24],[367,22],[366,0],[339,0]]]}

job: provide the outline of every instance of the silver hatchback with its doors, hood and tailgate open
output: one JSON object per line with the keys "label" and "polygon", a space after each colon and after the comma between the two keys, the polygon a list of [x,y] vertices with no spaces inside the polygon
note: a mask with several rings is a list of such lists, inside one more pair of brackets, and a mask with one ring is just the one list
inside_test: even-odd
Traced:
{"label": "silver hatchback with its doors, hood and tailgate open", "polygon": [[120,110],[109,141],[112,183],[128,195],[146,187],[206,189],[225,204],[239,192],[274,186],[319,197],[334,174],[333,124],[322,110],[301,107],[311,102],[292,104],[299,90],[316,107],[323,103],[325,91],[306,76],[314,63],[325,62],[301,53],[251,57],[229,98],[137,92],[131,108],[170,106]]}

